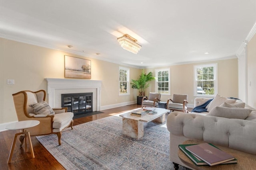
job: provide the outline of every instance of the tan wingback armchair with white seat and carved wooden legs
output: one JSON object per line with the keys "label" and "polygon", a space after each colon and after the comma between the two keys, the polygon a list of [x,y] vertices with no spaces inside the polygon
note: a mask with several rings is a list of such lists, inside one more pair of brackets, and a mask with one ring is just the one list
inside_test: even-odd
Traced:
{"label": "tan wingback armchair with white seat and carved wooden legs", "polygon": [[[27,129],[31,136],[56,134],[58,136],[58,143],[61,145],[60,138],[62,130],[66,127],[71,127],[71,129],[73,129],[72,126],[74,113],[67,112],[66,107],[50,108],[50,106],[44,102],[46,97],[46,92],[44,90],[39,90],[37,92],[24,90],[12,94],[12,96],[18,121],[40,121],[39,125]],[[39,103],[46,104],[48,108],[54,112],[51,112],[50,114],[36,114],[36,112],[30,106]],[[20,136],[20,146],[22,146],[23,141],[24,136]]]}

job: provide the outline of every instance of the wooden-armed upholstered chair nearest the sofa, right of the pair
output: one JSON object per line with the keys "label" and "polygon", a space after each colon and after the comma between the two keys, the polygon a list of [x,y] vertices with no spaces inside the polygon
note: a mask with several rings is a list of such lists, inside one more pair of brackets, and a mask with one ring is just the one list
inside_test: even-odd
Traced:
{"label": "wooden-armed upholstered chair nearest the sofa, right of the pair", "polygon": [[173,99],[167,100],[167,109],[171,111],[183,111],[184,113],[188,113],[187,111],[188,105],[188,95],[187,94],[173,94]]}

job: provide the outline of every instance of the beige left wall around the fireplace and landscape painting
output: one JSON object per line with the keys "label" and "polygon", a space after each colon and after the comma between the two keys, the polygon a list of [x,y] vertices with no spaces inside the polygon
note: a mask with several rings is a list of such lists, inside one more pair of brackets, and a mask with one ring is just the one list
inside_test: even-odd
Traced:
{"label": "beige left wall around the fireplace and landscape painting", "polygon": [[[64,55],[91,60],[92,80],[102,80],[101,106],[136,101],[136,90],[130,89],[130,95],[118,95],[118,69],[122,65],[0,38],[0,123],[17,121],[12,94],[46,90],[44,78],[64,78]],[[130,68],[132,79],[141,72],[124,67]],[[15,84],[8,85],[7,79],[14,79]]]}

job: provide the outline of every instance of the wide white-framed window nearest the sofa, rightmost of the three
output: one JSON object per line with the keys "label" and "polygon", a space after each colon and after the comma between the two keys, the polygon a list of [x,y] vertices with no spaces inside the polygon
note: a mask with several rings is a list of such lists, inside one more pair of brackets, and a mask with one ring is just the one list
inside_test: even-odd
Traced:
{"label": "wide white-framed window nearest the sofa, rightmost of the three", "polygon": [[217,85],[217,63],[194,66],[194,96],[214,97]]}

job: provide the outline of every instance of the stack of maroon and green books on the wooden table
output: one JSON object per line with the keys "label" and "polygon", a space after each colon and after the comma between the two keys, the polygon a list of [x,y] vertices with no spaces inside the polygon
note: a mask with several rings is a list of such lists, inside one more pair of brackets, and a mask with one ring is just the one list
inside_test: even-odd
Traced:
{"label": "stack of maroon and green books on the wooden table", "polygon": [[179,148],[196,165],[218,165],[237,163],[237,159],[210,143],[179,145]]}

